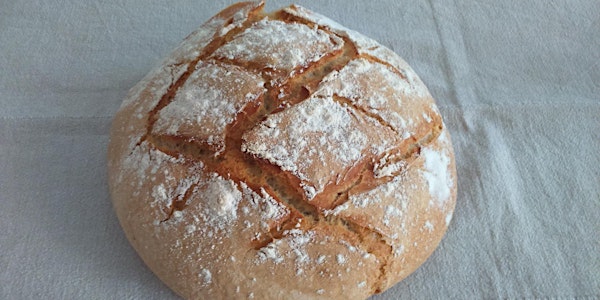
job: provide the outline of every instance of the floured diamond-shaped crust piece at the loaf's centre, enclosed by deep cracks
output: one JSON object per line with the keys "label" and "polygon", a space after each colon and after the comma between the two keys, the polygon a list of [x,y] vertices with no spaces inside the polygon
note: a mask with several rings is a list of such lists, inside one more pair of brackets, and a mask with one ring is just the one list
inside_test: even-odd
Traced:
{"label": "floured diamond-shaped crust piece at the loaf's centre, enclosed by deep cracks", "polygon": [[242,147],[298,176],[312,199],[361,158],[369,139],[359,125],[347,107],[314,97],[270,115],[244,136]]}

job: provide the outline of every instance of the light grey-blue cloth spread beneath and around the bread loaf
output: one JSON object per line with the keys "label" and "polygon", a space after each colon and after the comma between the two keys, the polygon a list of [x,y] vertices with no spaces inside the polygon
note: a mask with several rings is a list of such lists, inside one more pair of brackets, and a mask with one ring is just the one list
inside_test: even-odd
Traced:
{"label": "light grey-blue cloth spread beneath and around the bread loaf", "polygon": [[[1,299],[176,298],[113,214],[108,131],[127,90],[230,3],[0,2]],[[375,298],[600,298],[599,1],[298,3],[404,57],[455,144],[446,237]]]}

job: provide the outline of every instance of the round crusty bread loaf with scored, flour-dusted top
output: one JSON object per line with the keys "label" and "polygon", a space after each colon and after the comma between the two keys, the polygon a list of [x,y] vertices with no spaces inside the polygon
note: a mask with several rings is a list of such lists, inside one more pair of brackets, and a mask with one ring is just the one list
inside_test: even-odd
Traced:
{"label": "round crusty bread loaf with scored, flour-dusted top", "polygon": [[128,94],[111,129],[113,204],[189,299],[364,299],[452,218],[449,134],[377,42],[291,6],[235,4]]}

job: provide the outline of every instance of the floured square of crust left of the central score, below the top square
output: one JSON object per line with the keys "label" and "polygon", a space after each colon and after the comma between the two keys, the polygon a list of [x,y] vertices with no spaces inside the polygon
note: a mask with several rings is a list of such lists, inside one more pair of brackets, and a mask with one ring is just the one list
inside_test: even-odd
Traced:
{"label": "floured square of crust left of the central score, below the top square", "polygon": [[158,113],[153,133],[200,139],[222,150],[225,127],[265,91],[264,81],[231,65],[200,62],[171,103]]}

